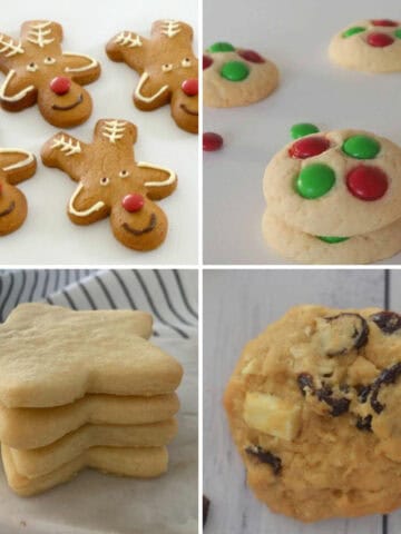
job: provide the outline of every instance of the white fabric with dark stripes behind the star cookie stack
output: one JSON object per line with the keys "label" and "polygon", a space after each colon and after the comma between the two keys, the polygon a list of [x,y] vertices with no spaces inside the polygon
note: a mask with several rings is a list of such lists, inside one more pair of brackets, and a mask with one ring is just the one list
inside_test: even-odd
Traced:
{"label": "white fabric with dark stripes behind the star cookie stack", "polygon": [[155,336],[192,338],[197,333],[196,270],[1,270],[0,322],[28,301],[72,309],[141,309],[153,315]]}

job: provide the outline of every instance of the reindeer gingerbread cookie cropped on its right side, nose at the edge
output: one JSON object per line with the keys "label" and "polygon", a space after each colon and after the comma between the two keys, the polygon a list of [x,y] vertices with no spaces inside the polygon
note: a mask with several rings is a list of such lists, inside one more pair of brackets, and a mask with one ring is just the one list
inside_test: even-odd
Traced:
{"label": "reindeer gingerbread cookie cropped on its right side, nose at the edge", "polygon": [[170,103],[179,128],[198,131],[198,61],[192,49],[193,29],[185,22],[157,20],[151,37],[121,31],[107,44],[113,61],[124,61],[140,75],[134,103],[151,111]]}

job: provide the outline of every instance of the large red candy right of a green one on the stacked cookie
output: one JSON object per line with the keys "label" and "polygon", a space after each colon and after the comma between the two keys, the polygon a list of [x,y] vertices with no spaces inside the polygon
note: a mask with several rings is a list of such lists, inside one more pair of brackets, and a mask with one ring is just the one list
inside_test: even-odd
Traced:
{"label": "large red candy right of a green one on the stacked cookie", "polygon": [[372,201],[383,197],[389,188],[389,180],[379,167],[359,165],[346,175],[346,187],[354,197]]}

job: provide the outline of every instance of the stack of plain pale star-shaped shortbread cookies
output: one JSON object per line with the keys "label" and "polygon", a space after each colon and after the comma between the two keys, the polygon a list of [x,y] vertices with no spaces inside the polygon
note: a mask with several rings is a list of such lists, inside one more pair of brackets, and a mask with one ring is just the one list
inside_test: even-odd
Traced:
{"label": "stack of plain pale star-shaped shortbread cookies", "polygon": [[0,441],[10,487],[43,492],[84,467],[166,472],[182,366],[143,312],[16,308],[0,326]]}

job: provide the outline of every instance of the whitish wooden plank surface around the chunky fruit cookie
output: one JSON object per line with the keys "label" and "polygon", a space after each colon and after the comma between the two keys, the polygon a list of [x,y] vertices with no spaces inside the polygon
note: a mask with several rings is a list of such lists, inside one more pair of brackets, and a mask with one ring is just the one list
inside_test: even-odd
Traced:
{"label": "whitish wooden plank surface around the chunky fruit cookie", "polygon": [[383,270],[204,271],[204,493],[211,498],[205,534],[398,534],[401,512],[314,525],[270,513],[245,484],[228,435],[224,386],[245,343],[290,306],[387,304],[401,310],[401,273]]}

